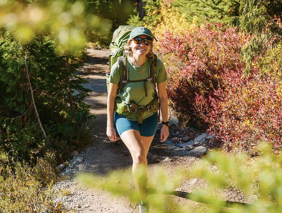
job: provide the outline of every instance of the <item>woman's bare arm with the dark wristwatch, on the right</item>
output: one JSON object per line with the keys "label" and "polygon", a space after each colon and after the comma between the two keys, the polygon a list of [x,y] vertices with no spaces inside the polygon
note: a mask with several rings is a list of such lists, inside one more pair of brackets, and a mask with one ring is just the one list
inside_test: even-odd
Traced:
{"label": "woman's bare arm with the dark wristwatch, on the right", "polygon": [[[168,121],[168,99],[166,92],[166,81],[157,84],[158,86],[158,94],[160,99],[160,107],[161,107],[161,115],[163,117],[163,121]],[[166,125],[162,125],[161,127],[161,142],[164,142],[166,138],[169,136],[169,128]]]}

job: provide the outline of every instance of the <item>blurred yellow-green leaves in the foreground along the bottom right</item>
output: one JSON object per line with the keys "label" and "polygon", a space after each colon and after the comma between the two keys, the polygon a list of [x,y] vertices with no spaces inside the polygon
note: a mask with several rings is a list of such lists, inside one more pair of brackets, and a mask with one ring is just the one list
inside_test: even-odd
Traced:
{"label": "blurred yellow-green leaves in the foreground along the bottom right", "polygon": [[[258,158],[249,158],[242,153],[226,156],[213,151],[189,166],[191,169],[175,170],[173,176],[162,169],[150,171],[148,187],[158,189],[158,194],[149,193],[151,210],[157,213],[279,212],[282,205],[282,157],[274,155],[265,143],[260,144],[260,150],[261,156]],[[77,178],[88,186],[102,188],[138,202],[130,169],[107,176],[80,174]],[[201,204],[195,206],[194,202],[187,200],[179,205],[174,196],[167,195],[177,194],[174,190],[178,186],[181,188],[184,178],[188,178],[188,182],[189,179],[198,178],[201,182],[200,186],[192,188],[192,193],[184,193],[187,199]],[[152,188],[148,190],[156,192]],[[232,195],[236,194],[238,197],[235,199],[238,200],[228,198],[228,191]]]}

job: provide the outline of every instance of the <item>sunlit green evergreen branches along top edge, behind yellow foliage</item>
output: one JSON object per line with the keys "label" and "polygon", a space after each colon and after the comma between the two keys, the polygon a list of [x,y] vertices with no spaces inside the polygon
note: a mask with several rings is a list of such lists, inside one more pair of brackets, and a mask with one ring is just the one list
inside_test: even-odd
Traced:
{"label": "sunlit green evergreen branches along top edge, behind yellow foliage", "polygon": [[189,22],[197,22],[198,25],[209,22],[227,22],[227,18],[239,15],[240,0],[175,0],[166,3],[163,0],[143,0],[144,14],[134,14],[128,20],[130,25],[144,25],[152,28],[161,21],[161,8],[168,6],[176,9],[179,14],[185,14]]}

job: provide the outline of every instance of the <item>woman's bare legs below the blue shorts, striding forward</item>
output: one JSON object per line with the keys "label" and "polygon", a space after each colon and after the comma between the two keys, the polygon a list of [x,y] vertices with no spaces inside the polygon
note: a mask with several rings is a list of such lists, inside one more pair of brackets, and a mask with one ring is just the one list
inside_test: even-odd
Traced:
{"label": "woman's bare legs below the blue shorts, striding forward", "polygon": [[140,136],[137,130],[127,130],[121,133],[121,140],[128,148],[133,159],[132,175],[139,199],[146,200],[147,191],[147,154],[154,135],[151,137]]}

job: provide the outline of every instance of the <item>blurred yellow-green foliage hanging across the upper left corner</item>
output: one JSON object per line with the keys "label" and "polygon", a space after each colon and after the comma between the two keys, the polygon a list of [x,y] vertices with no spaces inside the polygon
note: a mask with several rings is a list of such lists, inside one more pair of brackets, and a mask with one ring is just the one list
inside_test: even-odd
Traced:
{"label": "blurred yellow-green foliage hanging across the upper left corner", "polygon": [[58,50],[77,53],[98,33],[108,35],[109,19],[95,14],[87,1],[0,1],[0,28],[13,31],[17,39],[30,42],[36,35],[50,35]]}

